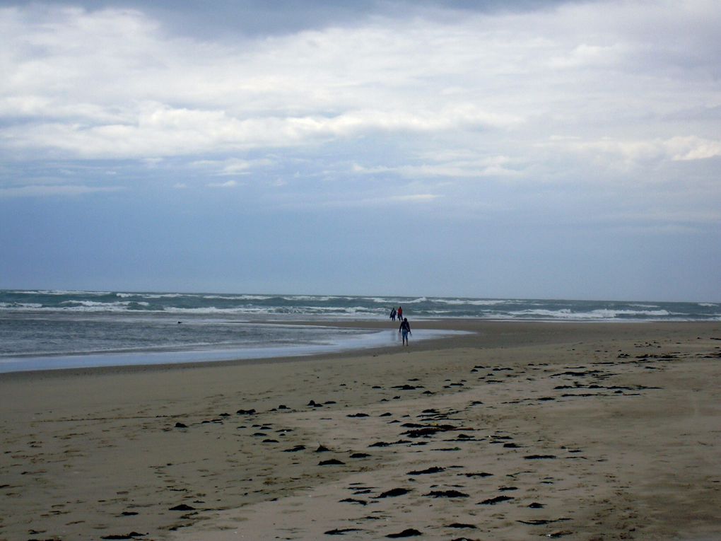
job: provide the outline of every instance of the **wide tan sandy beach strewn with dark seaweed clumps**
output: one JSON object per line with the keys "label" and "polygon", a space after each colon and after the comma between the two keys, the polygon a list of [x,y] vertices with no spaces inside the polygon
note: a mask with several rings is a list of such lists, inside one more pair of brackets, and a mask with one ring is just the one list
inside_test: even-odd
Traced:
{"label": "wide tan sandy beach strewn with dark seaweed clumps", "polygon": [[721,539],[720,322],[421,327],[1,374],[0,539]]}

